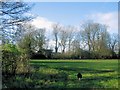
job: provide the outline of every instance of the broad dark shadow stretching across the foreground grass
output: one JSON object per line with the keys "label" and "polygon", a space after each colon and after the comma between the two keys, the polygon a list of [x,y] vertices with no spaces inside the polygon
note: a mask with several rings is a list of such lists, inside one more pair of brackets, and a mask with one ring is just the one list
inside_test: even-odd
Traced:
{"label": "broad dark shadow stretching across the foreground grass", "polygon": [[[46,67],[46,65],[43,65],[43,67]],[[62,72],[61,70],[63,69],[60,69],[60,71],[56,74],[49,74],[49,73],[44,74],[39,72],[38,70],[26,75],[18,74],[14,79],[9,78],[9,80],[7,80],[3,84],[6,84],[8,88],[42,88],[42,89],[53,88],[55,90],[56,88],[57,89],[59,88],[60,89],[62,88],[63,89],[64,88],[93,89],[93,88],[104,88],[104,86],[99,84],[100,81],[118,79],[114,75],[113,76],[97,76],[96,75],[94,77],[85,77],[85,78],[83,77],[83,79],[79,81],[77,78],[68,79],[68,74],[66,72]],[[102,71],[102,72],[106,72],[106,71]],[[71,84],[73,84],[73,86],[70,86]]]}

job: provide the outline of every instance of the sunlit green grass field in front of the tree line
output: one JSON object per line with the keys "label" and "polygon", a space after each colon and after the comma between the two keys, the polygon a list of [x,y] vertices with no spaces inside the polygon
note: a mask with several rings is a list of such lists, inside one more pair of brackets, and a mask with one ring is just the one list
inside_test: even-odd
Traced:
{"label": "sunlit green grass field in front of the tree line", "polygon": [[[31,60],[35,87],[118,88],[118,60]],[[82,80],[76,74],[81,72]],[[32,82],[31,81],[31,82]]]}

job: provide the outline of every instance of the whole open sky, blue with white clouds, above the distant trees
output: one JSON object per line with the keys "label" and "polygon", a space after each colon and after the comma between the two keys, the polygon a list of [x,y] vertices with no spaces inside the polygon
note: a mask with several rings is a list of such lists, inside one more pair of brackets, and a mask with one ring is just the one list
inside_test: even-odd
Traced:
{"label": "whole open sky, blue with white clouds, above the distant trees", "polygon": [[31,14],[36,18],[32,24],[52,31],[52,24],[80,27],[87,20],[108,26],[108,32],[118,32],[117,2],[28,2],[34,3]]}

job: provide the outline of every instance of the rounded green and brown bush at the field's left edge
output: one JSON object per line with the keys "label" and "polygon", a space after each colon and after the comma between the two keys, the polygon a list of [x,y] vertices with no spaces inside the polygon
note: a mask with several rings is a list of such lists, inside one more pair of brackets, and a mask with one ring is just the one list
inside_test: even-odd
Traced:
{"label": "rounded green and brown bush at the field's left edge", "polygon": [[[2,74],[14,76],[28,65],[28,58],[16,45],[2,46]],[[23,71],[21,71],[23,72]]]}

